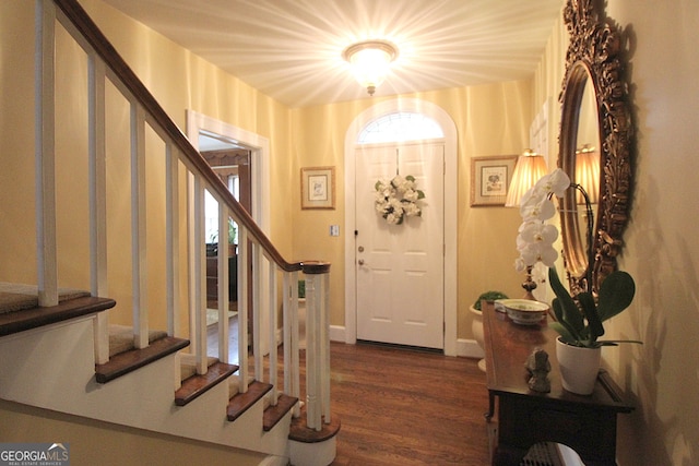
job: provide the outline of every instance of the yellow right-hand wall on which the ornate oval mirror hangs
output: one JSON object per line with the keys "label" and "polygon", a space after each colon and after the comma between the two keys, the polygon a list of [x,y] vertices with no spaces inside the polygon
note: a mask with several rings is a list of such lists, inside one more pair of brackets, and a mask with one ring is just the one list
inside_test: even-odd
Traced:
{"label": "yellow right-hand wall on which the ornate oval mirror hangs", "polygon": [[[628,39],[637,155],[631,217],[619,266],[636,279],[635,302],[606,325],[643,346],[605,348],[615,380],[636,399],[620,417],[621,465],[699,463],[699,3],[608,0]],[[557,98],[566,32],[552,34],[535,80],[535,104]],[[558,116],[559,119],[559,116]]]}

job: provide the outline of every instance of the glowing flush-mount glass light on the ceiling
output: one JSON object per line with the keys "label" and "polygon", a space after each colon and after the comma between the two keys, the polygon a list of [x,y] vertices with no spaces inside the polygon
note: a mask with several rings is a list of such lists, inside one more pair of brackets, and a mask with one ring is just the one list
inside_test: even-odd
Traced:
{"label": "glowing flush-mount glass light on the ceiling", "polygon": [[367,40],[347,47],[342,56],[352,65],[359,84],[374,95],[398,57],[398,48],[384,40]]}

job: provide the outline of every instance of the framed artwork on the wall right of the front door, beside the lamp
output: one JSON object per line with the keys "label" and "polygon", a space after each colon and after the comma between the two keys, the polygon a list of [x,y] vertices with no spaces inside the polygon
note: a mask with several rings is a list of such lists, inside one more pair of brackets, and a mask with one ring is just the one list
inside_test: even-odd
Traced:
{"label": "framed artwork on the wall right of the front door, beside the lamp", "polygon": [[505,205],[517,155],[471,159],[471,206]]}

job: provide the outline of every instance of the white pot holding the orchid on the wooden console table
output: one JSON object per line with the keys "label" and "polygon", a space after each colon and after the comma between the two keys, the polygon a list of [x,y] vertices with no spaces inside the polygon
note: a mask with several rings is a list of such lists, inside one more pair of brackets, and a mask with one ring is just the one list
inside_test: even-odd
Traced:
{"label": "white pot holding the orchid on the wooden console table", "polygon": [[564,389],[578,395],[590,395],[600,372],[602,348],[582,348],[556,338],[556,357]]}

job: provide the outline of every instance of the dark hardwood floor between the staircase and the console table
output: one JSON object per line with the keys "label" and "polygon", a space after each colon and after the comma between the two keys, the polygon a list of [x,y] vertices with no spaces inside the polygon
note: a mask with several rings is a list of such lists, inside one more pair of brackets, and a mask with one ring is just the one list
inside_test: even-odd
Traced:
{"label": "dark hardwood floor between the staircase and the console table", "polygon": [[333,465],[489,464],[477,360],[371,344],[331,345]]}

